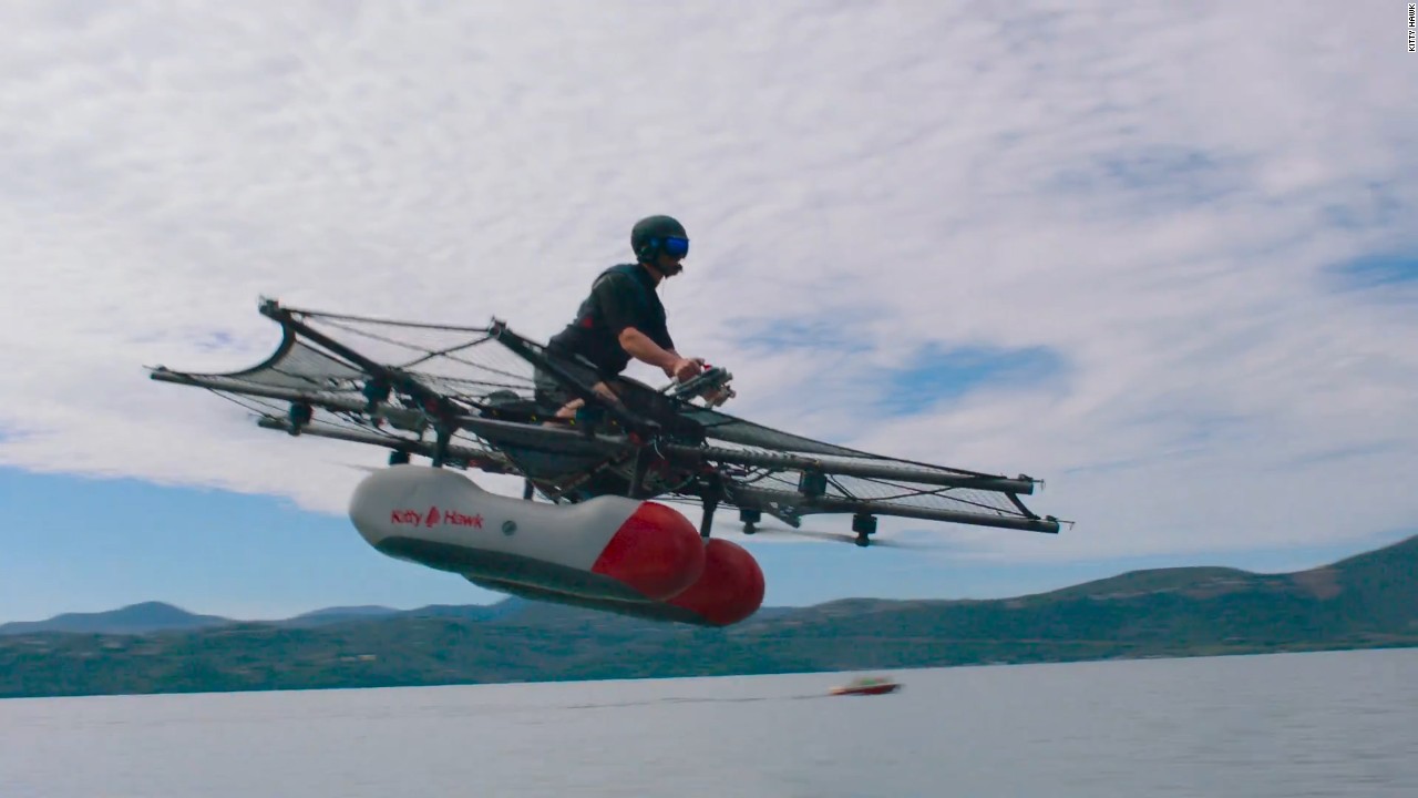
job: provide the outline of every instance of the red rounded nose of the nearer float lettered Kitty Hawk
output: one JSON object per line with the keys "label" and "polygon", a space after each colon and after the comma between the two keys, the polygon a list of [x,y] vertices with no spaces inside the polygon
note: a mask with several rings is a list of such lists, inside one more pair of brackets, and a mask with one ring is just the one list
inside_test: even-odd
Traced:
{"label": "red rounded nose of the nearer float lettered Kitty Hawk", "polygon": [[621,524],[591,571],[620,579],[648,599],[666,599],[699,578],[705,545],[688,518],[649,501]]}

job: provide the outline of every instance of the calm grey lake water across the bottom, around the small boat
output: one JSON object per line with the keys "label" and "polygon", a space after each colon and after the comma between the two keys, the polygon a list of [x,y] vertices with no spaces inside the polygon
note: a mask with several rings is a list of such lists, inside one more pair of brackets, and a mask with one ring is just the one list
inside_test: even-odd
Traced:
{"label": "calm grey lake water across the bottom, around the small boat", "polygon": [[0,797],[1418,795],[1418,649],[0,700]]}

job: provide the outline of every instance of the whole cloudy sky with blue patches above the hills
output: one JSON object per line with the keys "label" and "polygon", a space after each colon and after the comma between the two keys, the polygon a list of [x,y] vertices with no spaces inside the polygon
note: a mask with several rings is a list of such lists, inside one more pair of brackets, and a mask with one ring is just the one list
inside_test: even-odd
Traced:
{"label": "whole cloudy sky with blue patches above the hills", "polygon": [[546,338],[651,213],[727,410],[1075,521],[735,538],[766,603],[1401,540],[1415,70],[1377,1],[3,4],[0,622],[495,601],[359,538],[379,452],[145,366],[257,364],[261,297]]}

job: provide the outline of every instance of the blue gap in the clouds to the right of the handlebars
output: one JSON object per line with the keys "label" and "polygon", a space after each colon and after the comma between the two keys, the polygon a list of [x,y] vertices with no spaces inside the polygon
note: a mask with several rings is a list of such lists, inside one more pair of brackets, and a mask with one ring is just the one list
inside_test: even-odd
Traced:
{"label": "blue gap in the clouds to the right of the handlebars", "polygon": [[909,368],[885,376],[879,406],[893,415],[909,415],[986,385],[1054,379],[1064,368],[1064,358],[1045,346],[944,349],[932,345],[922,349]]}

